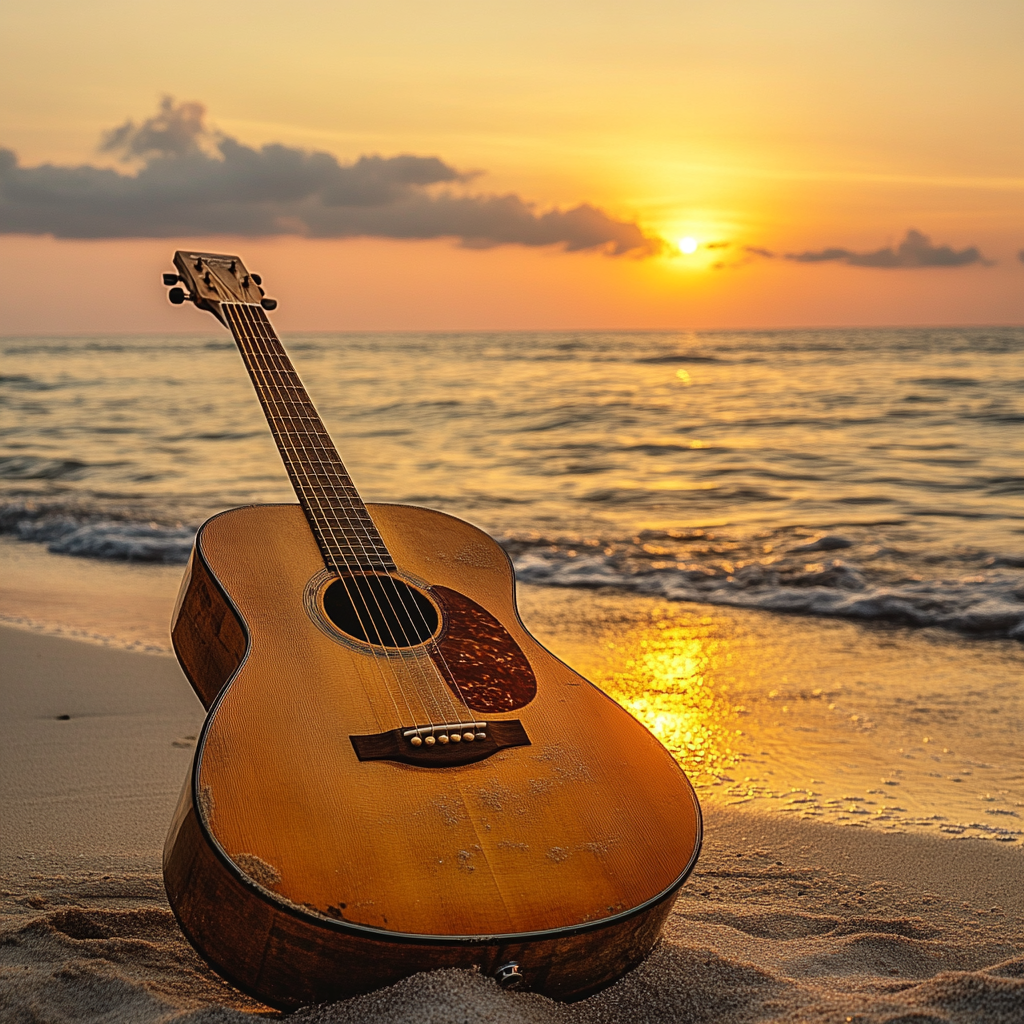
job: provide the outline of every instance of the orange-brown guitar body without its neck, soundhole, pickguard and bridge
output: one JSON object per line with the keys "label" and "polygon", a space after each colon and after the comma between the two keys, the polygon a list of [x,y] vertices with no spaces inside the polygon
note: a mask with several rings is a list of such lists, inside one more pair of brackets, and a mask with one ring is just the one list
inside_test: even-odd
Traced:
{"label": "orange-brown guitar body without its neck, soundhole, pickguard and bridge", "polygon": [[357,760],[349,736],[402,724],[400,707],[379,659],[316,622],[324,563],[301,510],[223,513],[173,625],[210,709],[165,847],[175,914],[219,973],[283,1009],[509,961],[535,991],[587,995],[656,941],[699,850],[692,788],[526,632],[493,540],[442,513],[369,511],[407,579],[465,595],[525,655],[537,695],[484,717],[521,721],[529,745],[459,767]]}

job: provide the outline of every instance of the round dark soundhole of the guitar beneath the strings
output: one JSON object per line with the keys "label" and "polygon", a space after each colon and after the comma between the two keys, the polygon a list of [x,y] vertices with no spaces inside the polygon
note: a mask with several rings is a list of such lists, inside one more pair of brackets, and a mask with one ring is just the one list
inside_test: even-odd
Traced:
{"label": "round dark soundhole of the guitar beneath the strings", "polygon": [[350,575],[324,592],[324,611],[342,633],[382,647],[415,647],[437,630],[437,609],[390,575]]}

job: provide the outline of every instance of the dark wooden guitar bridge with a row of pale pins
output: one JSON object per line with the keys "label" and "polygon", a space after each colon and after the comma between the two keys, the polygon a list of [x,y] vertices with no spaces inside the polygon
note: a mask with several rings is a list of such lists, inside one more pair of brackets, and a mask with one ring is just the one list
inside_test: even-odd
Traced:
{"label": "dark wooden guitar bridge with a row of pale pins", "polygon": [[421,725],[348,738],[360,761],[397,761],[421,768],[468,765],[507,746],[529,745],[518,719]]}

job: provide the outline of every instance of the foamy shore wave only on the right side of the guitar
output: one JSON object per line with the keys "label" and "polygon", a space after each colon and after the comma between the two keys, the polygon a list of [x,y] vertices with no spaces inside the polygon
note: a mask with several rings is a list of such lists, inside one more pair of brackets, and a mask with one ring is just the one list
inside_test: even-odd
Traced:
{"label": "foamy shore wave only on the right side of the guitar", "polygon": [[793,529],[745,539],[706,530],[648,530],[625,542],[506,538],[504,546],[523,583],[1024,641],[1024,573],[1013,556],[933,555],[925,575],[926,566],[870,538]]}

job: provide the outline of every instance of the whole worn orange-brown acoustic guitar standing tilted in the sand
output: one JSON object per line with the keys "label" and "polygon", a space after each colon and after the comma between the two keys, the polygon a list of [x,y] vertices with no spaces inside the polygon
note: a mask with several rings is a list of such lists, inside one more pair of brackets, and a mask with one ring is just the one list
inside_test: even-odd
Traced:
{"label": "whole worn orange-brown acoustic guitar standing tilted in the sand", "polygon": [[174,263],[171,301],[231,331],[299,499],[210,519],[174,610],[208,711],[164,851],[181,930],[286,1010],[438,968],[561,999],[620,978],[696,862],[686,776],[526,632],[495,541],[364,504],[260,279]]}

